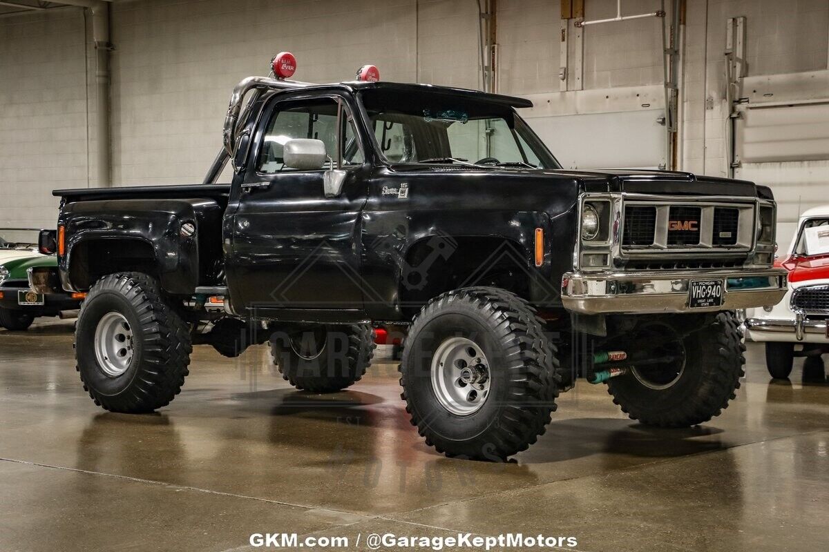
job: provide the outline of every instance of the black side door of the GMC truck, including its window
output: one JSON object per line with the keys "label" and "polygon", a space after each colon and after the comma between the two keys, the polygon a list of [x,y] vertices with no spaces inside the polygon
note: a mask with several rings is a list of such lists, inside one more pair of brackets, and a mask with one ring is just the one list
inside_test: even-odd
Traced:
{"label": "black side door of the GMC truck, including its window", "polygon": [[[342,144],[337,108],[343,103]],[[266,106],[244,176],[237,175],[225,218],[227,281],[235,310],[264,317],[303,319],[304,310],[329,310],[334,319],[359,318],[363,309],[360,214],[366,204],[365,156],[340,96],[283,99]],[[284,165],[283,146],[315,138],[327,155],[342,152],[342,193],[327,198],[322,170]],[[229,247],[228,247],[229,246]],[[319,316],[320,312],[317,313]],[[333,320],[333,319],[332,319]]]}

